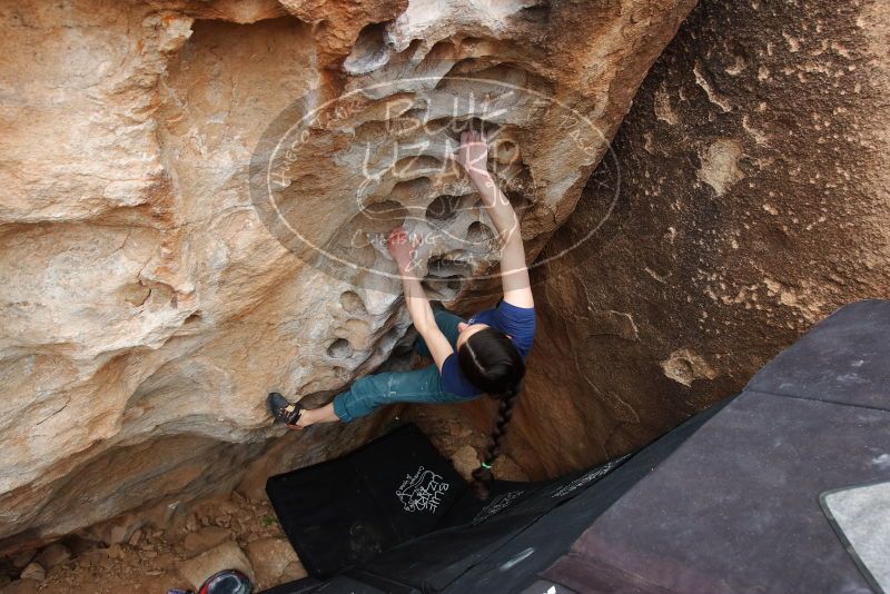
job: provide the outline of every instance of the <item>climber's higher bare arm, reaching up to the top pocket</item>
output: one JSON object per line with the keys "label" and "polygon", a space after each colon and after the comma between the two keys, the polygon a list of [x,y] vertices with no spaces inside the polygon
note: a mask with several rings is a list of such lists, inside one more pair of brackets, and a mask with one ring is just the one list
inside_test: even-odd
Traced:
{"label": "climber's higher bare arm, reaching up to the top pocket", "polygon": [[501,242],[501,279],[504,300],[518,307],[534,307],[520,219],[497,181],[488,172],[488,147],[481,132],[461,133],[457,162],[466,170],[482,196],[482,202],[497,229]]}

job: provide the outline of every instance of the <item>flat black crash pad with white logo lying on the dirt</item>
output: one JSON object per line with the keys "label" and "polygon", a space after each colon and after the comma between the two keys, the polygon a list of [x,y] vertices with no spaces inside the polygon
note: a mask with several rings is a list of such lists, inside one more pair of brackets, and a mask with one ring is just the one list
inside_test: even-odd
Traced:
{"label": "flat black crash pad with white logo lying on the dirt", "polygon": [[315,577],[426,534],[466,489],[414,425],[266,483],[281,527]]}

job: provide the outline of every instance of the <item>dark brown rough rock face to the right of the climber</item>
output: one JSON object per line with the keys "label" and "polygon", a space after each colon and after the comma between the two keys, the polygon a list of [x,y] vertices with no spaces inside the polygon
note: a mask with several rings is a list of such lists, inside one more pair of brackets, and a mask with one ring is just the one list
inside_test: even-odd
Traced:
{"label": "dark brown rough rock face to the right of the climber", "polygon": [[[890,297],[890,11],[702,1],[542,257],[510,452],[535,476],[739,390],[844,303]],[[621,179],[617,200],[610,188]]]}

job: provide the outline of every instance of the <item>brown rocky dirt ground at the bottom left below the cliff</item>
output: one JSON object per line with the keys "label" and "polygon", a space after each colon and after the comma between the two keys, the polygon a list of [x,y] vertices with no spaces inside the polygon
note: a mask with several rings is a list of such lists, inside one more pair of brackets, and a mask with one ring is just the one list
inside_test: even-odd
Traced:
{"label": "brown rocky dirt ground at the bottom left below the cliff", "polygon": [[[112,534],[115,531],[107,532]],[[248,499],[238,493],[230,498],[196,505],[191,513],[166,531],[142,526],[129,535],[128,532],[127,527],[117,528],[118,535],[127,536],[121,543],[72,536],[41,551],[0,560],[0,593],[111,594],[166,593],[171,587],[195,590],[180,575],[178,567],[184,561],[226,542],[237,543],[251,562],[257,590],[306,575],[269,502]],[[32,563],[43,570],[42,580],[39,568]],[[22,572],[24,578],[21,578]]]}

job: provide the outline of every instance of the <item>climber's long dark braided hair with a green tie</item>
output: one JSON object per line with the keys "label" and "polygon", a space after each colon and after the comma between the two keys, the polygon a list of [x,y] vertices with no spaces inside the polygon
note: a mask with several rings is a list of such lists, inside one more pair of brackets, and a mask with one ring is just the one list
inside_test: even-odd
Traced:
{"label": "climber's long dark braided hair with a green tie", "polygon": [[457,349],[457,362],[467,379],[490,397],[500,400],[501,405],[482,465],[473,471],[469,484],[476,497],[485,501],[492,481],[492,463],[501,453],[501,442],[513,415],[513,404],[520,395],[525,364],[507,335],[491,327],[467,338]]}

